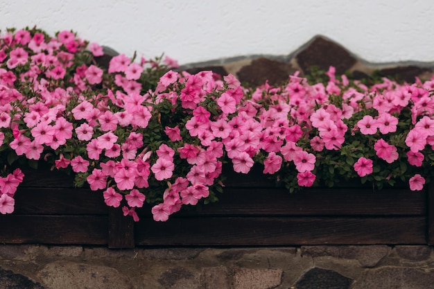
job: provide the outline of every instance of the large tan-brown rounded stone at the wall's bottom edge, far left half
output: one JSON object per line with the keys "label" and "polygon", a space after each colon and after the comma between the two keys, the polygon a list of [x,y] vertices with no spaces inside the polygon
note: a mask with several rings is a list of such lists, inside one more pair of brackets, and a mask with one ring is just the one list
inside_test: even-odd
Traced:
{"label": "large tan-brown rounded stone at the wall's bottom edge, far left half", "polygon": [[55,261],[39,273],[39,278],[50,289],[131,289],[130,280],[121,272],[99,265]]}

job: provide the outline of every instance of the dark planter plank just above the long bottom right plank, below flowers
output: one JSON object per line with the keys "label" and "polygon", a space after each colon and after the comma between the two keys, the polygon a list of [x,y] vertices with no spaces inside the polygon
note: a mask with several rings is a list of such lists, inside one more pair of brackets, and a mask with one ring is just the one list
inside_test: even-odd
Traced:
{"label": "dark planter plank just above the long bottom right plank, below flowers", "polygon": [[[225,188],[219,201],[176,216],[425,216],[426,191],[407,189]],[[149,216],[150,207],[141,210]]]}

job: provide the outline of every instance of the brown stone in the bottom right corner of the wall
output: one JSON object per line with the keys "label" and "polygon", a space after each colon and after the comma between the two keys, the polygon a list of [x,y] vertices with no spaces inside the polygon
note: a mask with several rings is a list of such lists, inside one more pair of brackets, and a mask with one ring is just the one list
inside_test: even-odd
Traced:
{"label": "brown stone in the bottom right corner of the wall", "polygon": [[427,289],[433,284],[434,270],[389,267],[367,270],[352,289]]}

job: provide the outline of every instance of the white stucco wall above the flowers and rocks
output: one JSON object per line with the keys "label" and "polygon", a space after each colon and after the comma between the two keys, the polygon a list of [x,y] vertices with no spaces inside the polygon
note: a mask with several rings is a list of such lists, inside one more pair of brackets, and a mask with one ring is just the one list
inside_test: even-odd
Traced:
{"label": "white stucco wall above the flowers and rocks", "polygon": [[2,0],[0,28],[72,29],[180,64],[286,55],[322,34],[370,62],[434,60],[432,0]]}

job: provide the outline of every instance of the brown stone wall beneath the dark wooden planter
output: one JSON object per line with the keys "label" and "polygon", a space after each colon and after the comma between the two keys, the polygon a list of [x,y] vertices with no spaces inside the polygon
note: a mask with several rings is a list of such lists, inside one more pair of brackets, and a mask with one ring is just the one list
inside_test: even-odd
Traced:
{"label": "brown stone wall beneath the dark wooden planter", "polygon": [[1,245],[0,289],[433,288],[433,247]]}

